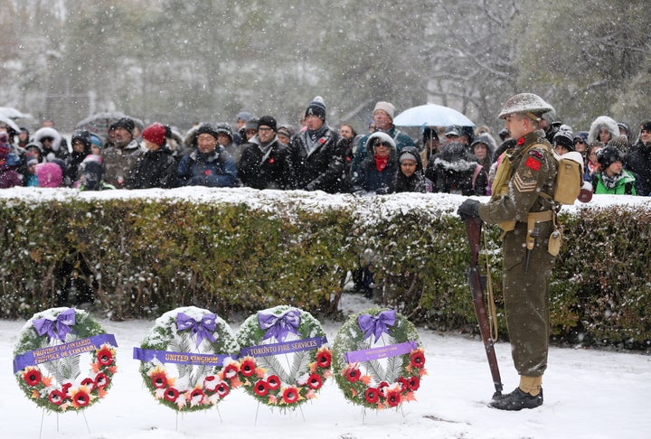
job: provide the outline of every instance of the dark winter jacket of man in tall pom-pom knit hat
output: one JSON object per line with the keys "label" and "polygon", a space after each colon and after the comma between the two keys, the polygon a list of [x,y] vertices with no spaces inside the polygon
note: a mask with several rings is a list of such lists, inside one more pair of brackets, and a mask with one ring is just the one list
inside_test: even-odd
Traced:
{"label": "dark winter jacket of man in tall pom-pom knit hat", "polygon": [[296,175],[295,188],[304,191],[341,192],[344,187],[344,145],[329,126],[318,131],[316,148],[308,151],[308,130],[298,133],[289,146]]}

